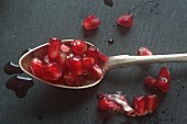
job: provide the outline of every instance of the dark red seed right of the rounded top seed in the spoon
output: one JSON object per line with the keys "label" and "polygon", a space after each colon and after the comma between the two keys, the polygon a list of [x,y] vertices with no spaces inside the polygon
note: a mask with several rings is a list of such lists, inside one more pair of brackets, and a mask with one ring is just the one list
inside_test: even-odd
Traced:
{"label": "dark red seed right of the rounded top seed in the spoon", "polygon": [[94,58],[95,64],[98,64],[98,54],[97,54],[97,49],[95,47],[90,46],[88,48],[88,50],[86,52],[86,56]]}

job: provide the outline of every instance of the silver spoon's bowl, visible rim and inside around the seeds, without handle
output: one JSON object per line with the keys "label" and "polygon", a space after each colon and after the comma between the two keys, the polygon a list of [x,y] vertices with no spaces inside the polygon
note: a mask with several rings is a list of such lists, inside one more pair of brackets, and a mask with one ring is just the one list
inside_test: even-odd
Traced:
{"label": "silver spoon's bowl, visible rim and inside around the seeds, without handle", "polygon": [[[72,42],[72,41],[74,41],[74,40],[63,40],[62,42],[63,42],[64,44],[66,44],[66,43],[69,43],[69,42]],[[86,44],[88,44],[89,46],[96,47],[95,45],[92,45],[92,44],[90,44],[90,43],[88,43],[88,42],[86,42]],[[31,72],[31,70],[30,70],[30,64],[31,64],[31,60],[32,60],[34,57],[40,58],[40,57],[43,56],[43,55],[47,55],[47,52],[48,52],[48,43],[43,44],[43,45],[40,45],[40,46],[37,46],[37,47],[35,47],[35,48],[32,48],[31,50],[29,50],[28,53],[25,53],[25,54],[20,58],[20,60],[19,60],[20,68],[21,68],[24,72],[26,72],[28,75],[32,76],[33,78],[36,78],[37,80],[40,80],[40,81],[42,81],[42,82],[45,82],[45,83],[47,83],[47,84],[50,84],[50,86],[54,86],[54,87],[58,87],[58,88],[65,88],[65,89],[86,89],[86,88],[90,88],[90,87],[94,87],[94,86],[98,84],[98,83],[102,80],[102,78],[103,78],[103,76],[102,76],[102,77],[101,77],[99,80],[97,80],[97,81],[87,81],[84,86],[80,86],[80,87],[69,87],[69,86],[66,86],[66,84],[64,84],[64,83],[52,83],[52,82],[50,82],[50,81],[43,80],[43,79],[34,76],[34,75]]]}

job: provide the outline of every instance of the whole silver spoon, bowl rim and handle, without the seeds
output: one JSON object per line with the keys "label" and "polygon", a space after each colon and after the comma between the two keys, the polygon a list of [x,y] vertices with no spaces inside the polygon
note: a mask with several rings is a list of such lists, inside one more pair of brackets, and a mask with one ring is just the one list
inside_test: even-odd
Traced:
{"label": "whole silver spoon, bowl rim and handle, without the seeds", "polygon": [[[74,40],[63,40],[62,42],[64,44],[69,43]],[[86,42],[87,45],[94,46],[95,45]],[[97,48],[97,47],[96,47]],[[42,57],[44,55],[47,55],[48,52],[48,43],[40,45],[28,53],[25,53],[19,60],[19,65],[21,69],[26,72],[28,75],[36,78],[37,80],[41,80],[42,82],[45,82],[50,86],[58,87],[58,88],[65,88],[65,89],[87,89],[90,87],[94,87],[98,84],[103,76],[98,79],[97,81],[87,81],[84,86],[80,87],[69,87],[64,83],[52,83],[50,81],[43,80],[38,77],[35,77],[31,70],[30,70],[30,64],[31,60],[34,57]],[[151,64],[151,63],[184,63],[187,61],[187,54],[170,54],[170,55],[152,55],[152,56],[129,56],[129,55],[118,55],[118,56],[111,56],[109,57],[109,60],[107,61],[106,66],[102,67],[105,72],[110,69],[116,69],[116,68],[124,68],[129,67],[132,65],[139,65],[139,64]]]}

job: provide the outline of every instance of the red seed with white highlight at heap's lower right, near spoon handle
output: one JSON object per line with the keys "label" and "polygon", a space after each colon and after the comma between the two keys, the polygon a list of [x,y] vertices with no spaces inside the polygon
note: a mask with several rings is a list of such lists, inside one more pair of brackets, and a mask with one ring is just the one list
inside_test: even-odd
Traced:
{"label": "red seed with white highlight at heap's lower right, near spoon handle", "polygon": [[[94,65],[89,71],[94,80],[98,80],[103,77],[103,71],[98,65]],[[90,75],[88,74],[88,75]]]}

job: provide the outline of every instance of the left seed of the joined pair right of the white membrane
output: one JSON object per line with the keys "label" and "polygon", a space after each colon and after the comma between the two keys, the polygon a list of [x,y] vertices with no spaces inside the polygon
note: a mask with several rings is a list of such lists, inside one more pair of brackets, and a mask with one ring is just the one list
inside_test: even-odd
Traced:
{"label": "left seed of the joined pair right of the white membrane", "polygon": [[143,116],[145,115],[146,112],[146,97],[135,97],[133,99],[133,105],[134,105],[134,110],[136,112],[138,116]]}

